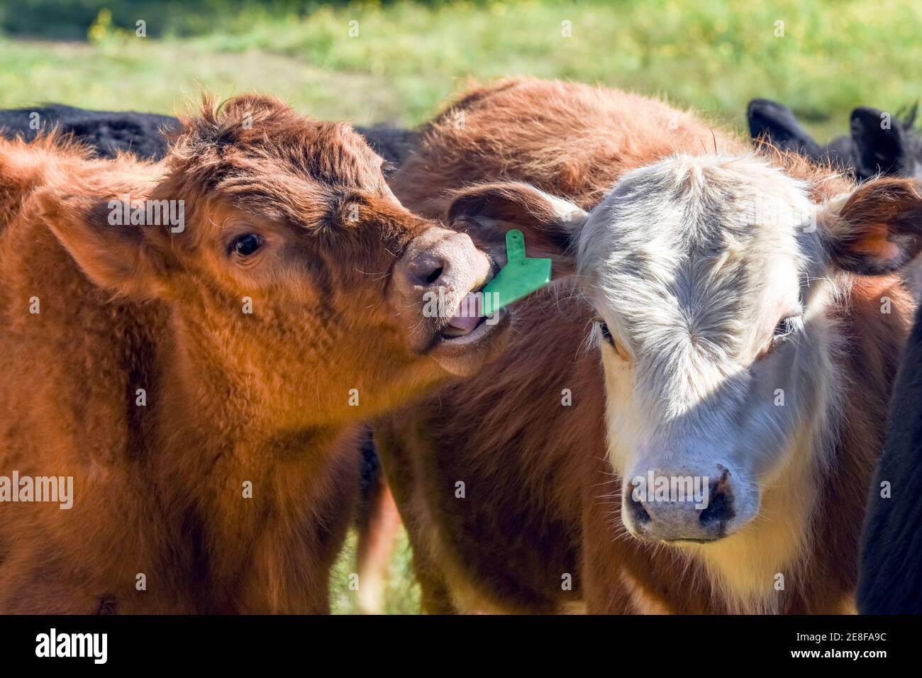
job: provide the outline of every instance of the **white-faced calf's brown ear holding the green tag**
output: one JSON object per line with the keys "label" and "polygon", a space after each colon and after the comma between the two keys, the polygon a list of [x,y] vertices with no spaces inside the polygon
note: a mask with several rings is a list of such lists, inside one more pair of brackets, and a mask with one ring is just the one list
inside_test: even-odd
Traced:
{"label": "white-faced calf's brown ear holding the green tag", "polygon": [[561,278],[573,272],[571,244],[586,216],[569,200],[508,182],[457,191],[445,220],[456,231],[467,232],[501,266],[506,262],[506,232],[519,229],[525,234],[526,256],[549,257],[553,277]]}

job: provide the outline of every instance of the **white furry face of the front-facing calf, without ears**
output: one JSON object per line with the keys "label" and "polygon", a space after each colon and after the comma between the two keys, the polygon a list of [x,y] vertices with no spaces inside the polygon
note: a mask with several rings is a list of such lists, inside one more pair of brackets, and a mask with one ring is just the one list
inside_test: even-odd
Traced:
{"label": "white furry face of the front-facing calf, without ears", "polygon": [[762,497],[807,482],[835,392],[813,215],[805,186],[754,156],[677,156],[626,174],[585,221],[577,261],[607,329],[609,457],[634,535],[715,541],[808,515],[810,488],[778,515]]}

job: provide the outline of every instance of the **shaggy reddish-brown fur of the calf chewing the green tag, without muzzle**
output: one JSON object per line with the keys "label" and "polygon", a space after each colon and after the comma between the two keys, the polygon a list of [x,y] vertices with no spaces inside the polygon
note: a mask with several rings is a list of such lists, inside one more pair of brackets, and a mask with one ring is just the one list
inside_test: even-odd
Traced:
{"label": "shaggy reddish-brown fur of the calf chewing the green tag, without muzzle", "polygon": [[[361,137],[253,95],[183,123],[162,163],[0,141],[0,475],[75,493],[0,506],[0,612],[326,612],[358,420],[445,376],[384,303],[431,224]],[[126,195],[184,231],[109,225]]]}

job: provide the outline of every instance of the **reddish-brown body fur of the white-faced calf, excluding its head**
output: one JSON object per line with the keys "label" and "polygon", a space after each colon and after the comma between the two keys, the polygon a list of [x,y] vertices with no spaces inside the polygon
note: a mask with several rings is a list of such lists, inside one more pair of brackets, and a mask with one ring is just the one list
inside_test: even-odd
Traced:
{"label": "reddish-brown body fur of the white-faced calf, excluding its head", "polygon": [[[743,152],[689,113],[608,89],[538,80],[474,90],[426,130],[392,181],[409,208],[445,214],[449,192],[488,180],[537,185],[591,208],[623,172],[674,152]],[[810,181],[815,200],[845,179],[775,154]],[[879,312],[881,295],[892,315]],[[833,310],[847,338],[843,427],[818,506],[810,553],[786,573],[780,612],[848,607],[869,474],[881,446],[908,295],[893,277],[857,279]],[[497,369],[444,387],[377,427],[379,452],[408,527],[423,605],[432,613],[591,613],[733,609],[703,565],[621,526],[620,487],[606,460],[604,387],[584,341],[592,310],[538,293],[516,309]],[[561,406],[563,389],[573,405]],[[465,483],[465,497],[455,483]],[[829,507],[834,506],[834,510]],[[572,577],[568,590],[563,584]]]}

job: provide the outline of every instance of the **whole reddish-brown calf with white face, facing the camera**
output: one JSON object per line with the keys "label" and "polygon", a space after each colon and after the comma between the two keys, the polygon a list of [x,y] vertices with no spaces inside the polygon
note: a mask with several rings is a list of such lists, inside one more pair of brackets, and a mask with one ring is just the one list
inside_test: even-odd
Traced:
{"label": "whole reddish-brown calf with white face, facing the camera", "polygon": [[428,610],[849,609],[916,184],[856,189],[656,101],[525,80],[448,109],[392,185],[494,256],[523,229],[595,307],[516,304],[502,369],[378,426]]}

